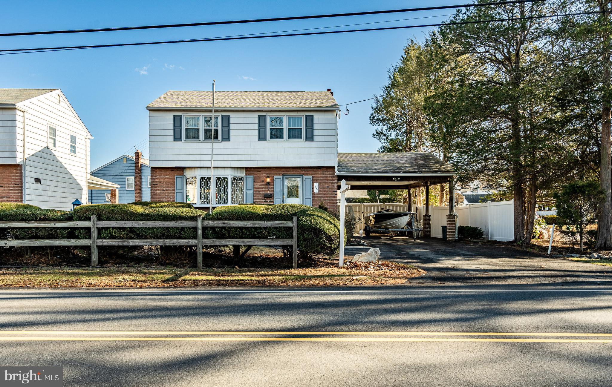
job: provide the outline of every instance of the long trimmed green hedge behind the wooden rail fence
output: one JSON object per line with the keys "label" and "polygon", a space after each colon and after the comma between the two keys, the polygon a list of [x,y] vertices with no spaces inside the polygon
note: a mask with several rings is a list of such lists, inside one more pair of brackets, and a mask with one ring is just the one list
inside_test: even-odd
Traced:
{"label": "long trimmed green hedge behind the wooden rail fence", "polygon": [[[301,204],[277,205],[230,205],[217,207],[212,215],[195,210],[184,203],[139,204],[88,204],[76,207],[74,212],[45,210],[42,208],[23,208],[0,212],[0,220],[88,220],[96,215],[104,220],[155,220],[194,221],[198,216],[211,220],[293,220],[298,218],[298,249],[300,255],[334,254],[338,251],[340,223],[328,212]],[[88,239],[89,228],[35,227],[28,229],[0,229],[2,238],[65,238]],[[291,227],[204,227],[203,238],[292,238]],[[195,227],[102,227],[100,239],[195,239]],[[271,244],[274,244],[271,241]],[[184,246],[176,249],[187,251]]]}

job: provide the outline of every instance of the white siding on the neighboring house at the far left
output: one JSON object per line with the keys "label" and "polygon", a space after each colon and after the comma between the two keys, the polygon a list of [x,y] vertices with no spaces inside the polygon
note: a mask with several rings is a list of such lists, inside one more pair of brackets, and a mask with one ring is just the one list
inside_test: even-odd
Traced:
{"label": "white siding on the neighboring house at the far left", "polygon": [[[71,210],[72,202],[79,199],[87,203],[87,174],[89,171],[88,131],[70,108],[59,90],[17,103],[13,112],[14,125],[9,140],[12,150],[5,158],[5,109],[0,109],[0,161],[23,164],[23,124],[25,119],[26,197],[24,202],[42,208]],[[25,116],[25,118],[24,118]],[[50,147],[49,127],[55,128],[55,149]],[[70,134],[76,137],[76,154],[70,153]],[[14,158],[13,158],[14,157]],[[41,183],[35,183],[40,179]]]}

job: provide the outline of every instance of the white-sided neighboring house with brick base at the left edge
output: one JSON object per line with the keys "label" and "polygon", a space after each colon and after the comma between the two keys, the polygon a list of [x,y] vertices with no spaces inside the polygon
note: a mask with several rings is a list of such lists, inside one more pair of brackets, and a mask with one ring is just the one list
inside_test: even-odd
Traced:
{"label": "white-sided neighboring house with brick base at the left edge", "polygon": [[[0,202],[88,203],[91,138],[61,90],[0,89]],[[95,179],[90,188],[116,185]]]}

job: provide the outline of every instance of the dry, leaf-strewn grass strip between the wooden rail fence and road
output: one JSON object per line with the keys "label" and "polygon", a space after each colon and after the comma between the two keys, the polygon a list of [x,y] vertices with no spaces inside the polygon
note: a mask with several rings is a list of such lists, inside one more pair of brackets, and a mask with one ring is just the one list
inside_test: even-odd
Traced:
{"label": "dry, leaf-strewn grass strip between the wooden rail fence and road", "polygon": [[425,271],[379,261],[383,267],[293,269],[175,267],[4,268],[0,287],[340,286],[404,284]]}

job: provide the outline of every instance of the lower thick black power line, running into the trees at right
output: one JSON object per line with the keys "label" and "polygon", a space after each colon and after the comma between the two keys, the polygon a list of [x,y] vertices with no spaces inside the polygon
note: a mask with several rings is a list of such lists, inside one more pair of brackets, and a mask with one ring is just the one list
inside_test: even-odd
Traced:
{"label": "lower thick black power line, running into the trees at right", "polygon": [[[395,30],[395,29],[425,28],[425,27],[453,26],[453,25],[462,25],[462,24],[494,23],[494,22],[499,22],[499,21],[535,20],[535,19],[553,18],[553,17],[592,15],[592,14],[595,14],[595,13],[603,13],[603,12],[606,12],[606,11],[592,11],[592,12],[578,12],[578,13],[558,13],[558,14],[555,14],[555,15],[540,15],[540,16],[531,16],[531,17],[490,19],[490,20],[453,21],[453,22],[450,22],[450,23],[420,24],[420,25],[415,25],[415,26],[398,26],[398,27],[347,29],[347,30],[340,30],[340,31],[321,31],[321,32],[300,32],[300,33],[295,33],[295,34],[274,34],[274,35],[257,35],[257,36],[217,37],[217,38],[204,38],[204,39],[182,39],[182,40],[166,40],[166,41],[159,41],[159,42],[115,43],[115,44],[87,45],[87,46],[59,46],[59,47],[19,48],[19,49],[15,48],[15,49],[0,50],[0,53],[4,53],[4,54],[0,54],[0,55],[23,54],[23,53],[29,53],[29,52],[84,50],[84,49],[88,49],[88,48],[106,48],[106,47],[122,47],[122,46],[144,46],[144,45],[160,45],[160,44],[192,43],[192,42],[219,42],[219,41],[222,41],[222,40],[245,40],[245,39],[264,39],[264,38],[294,37],[294,36],[307,36],[307,35],[343,34],[343,33],[347,33],[347,32],[389,31],[389,30]],[[20,51],[20,52],[18,52],[18,51]]]}

